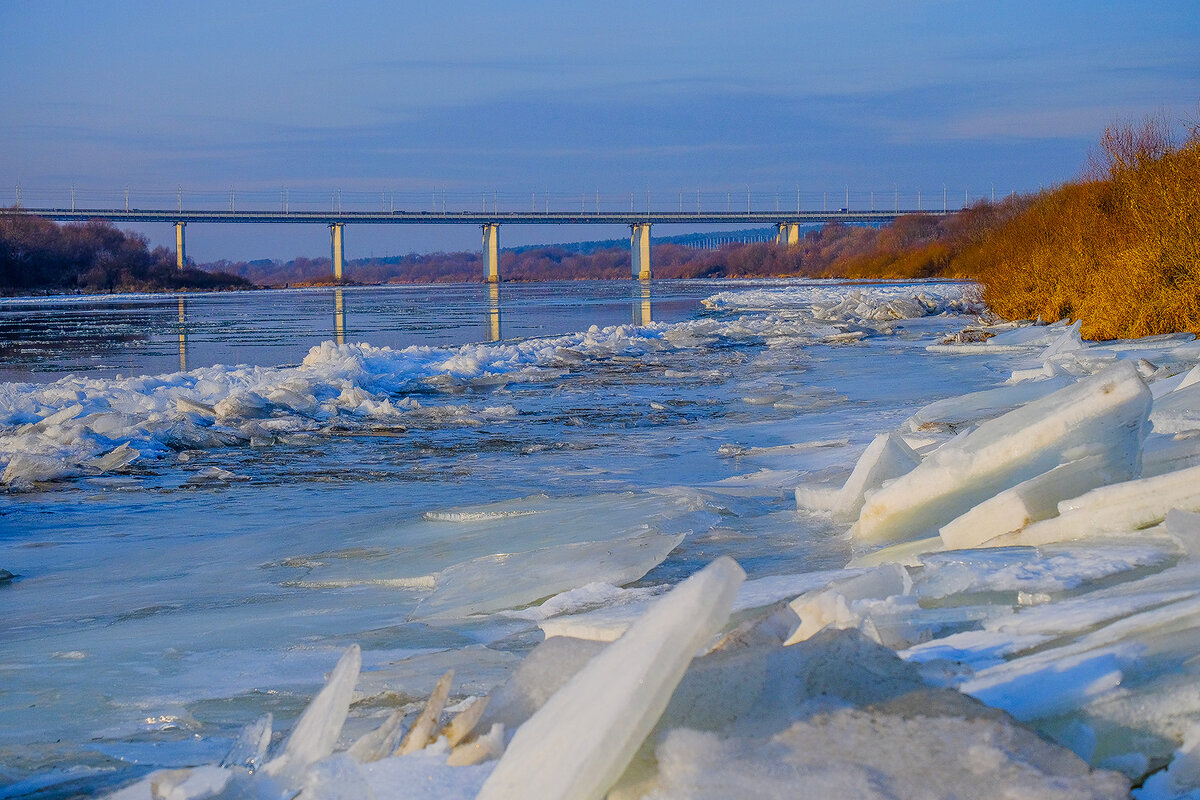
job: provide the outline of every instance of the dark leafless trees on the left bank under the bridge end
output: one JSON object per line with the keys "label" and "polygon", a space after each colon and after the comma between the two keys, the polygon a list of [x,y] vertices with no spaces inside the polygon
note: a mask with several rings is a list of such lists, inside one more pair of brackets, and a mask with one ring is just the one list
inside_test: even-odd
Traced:
{"label": "dark leafless trees on the left bank under the bridge end", "polygon": [[175,265],[174,251],[108,222],[59,225],[0,210],[0,293],[250,289],[234,275]]}

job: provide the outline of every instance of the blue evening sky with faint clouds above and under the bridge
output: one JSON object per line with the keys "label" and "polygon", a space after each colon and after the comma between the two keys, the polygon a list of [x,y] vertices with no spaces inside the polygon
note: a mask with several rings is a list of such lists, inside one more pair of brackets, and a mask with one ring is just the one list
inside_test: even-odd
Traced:
{"label": "blue evening sky with faint clouds above and under the bridge", "polygon": [[[5,205],[940,207],[1076,178],[1153,114],[1200,116],[1196,0],[0,0]],[[187,235],[198,261],[329,252],[318,225]],[[352,259],[479,247],[346,231]]]}

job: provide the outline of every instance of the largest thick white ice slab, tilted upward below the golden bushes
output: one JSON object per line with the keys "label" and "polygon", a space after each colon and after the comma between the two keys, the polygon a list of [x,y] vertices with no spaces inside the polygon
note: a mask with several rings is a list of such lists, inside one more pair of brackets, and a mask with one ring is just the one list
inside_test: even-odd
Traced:
{"label": "largest thick white ice slab, tilted upward below the golden bushes", "polygon": [[1090,455],[1132,476],[1150,399],[1123,362],[988,420],[871,494],[852,534],[866,542],[928,536],[988,498]]}

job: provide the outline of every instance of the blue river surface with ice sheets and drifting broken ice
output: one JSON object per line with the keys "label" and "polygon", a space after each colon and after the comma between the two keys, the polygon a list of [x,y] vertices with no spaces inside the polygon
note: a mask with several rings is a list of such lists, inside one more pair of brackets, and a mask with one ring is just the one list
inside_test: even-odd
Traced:
{"label": "blue river surface with ice sheets and drifting broken ice", "polygon": [[[556,619],[611,638],[721,555],[803,594],[869,548],[796,487],[1028,366],[926,350],[980,311],[955,283],[0,301],[0,798],[216,763],[264,712],[286,732],[352,644],[343,735],[446,668],[488,692]],[[1070,563],[924,575],[1028,602],[1109,575]]]}

